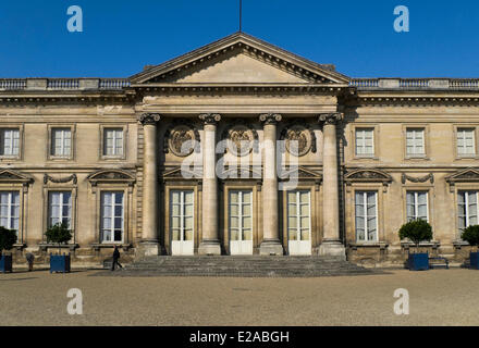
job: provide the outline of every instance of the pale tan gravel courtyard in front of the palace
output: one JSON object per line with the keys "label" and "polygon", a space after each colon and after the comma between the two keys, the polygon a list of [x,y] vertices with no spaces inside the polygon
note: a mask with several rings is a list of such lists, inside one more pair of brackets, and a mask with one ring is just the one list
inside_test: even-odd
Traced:
{"label": "pale tan gravel courtyard in front of the palace", "polygon": [[[479,325],[479,272],[463,269],[320,278],[91,276],[98,272],[109,271],[0,274],[0,321],[48,326]],[[82,315],[66,311],[71,288],[82,290]],[[397,288],[409,291],[409,315],[393,311]]]}

